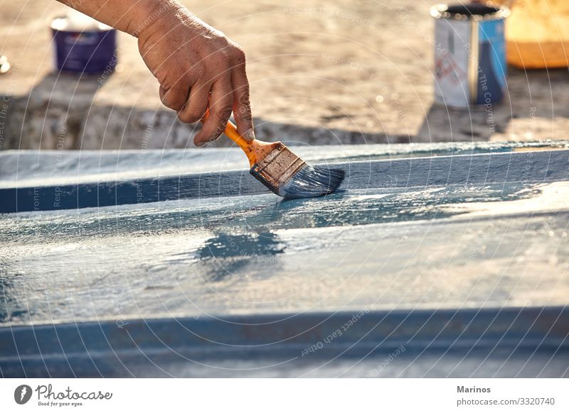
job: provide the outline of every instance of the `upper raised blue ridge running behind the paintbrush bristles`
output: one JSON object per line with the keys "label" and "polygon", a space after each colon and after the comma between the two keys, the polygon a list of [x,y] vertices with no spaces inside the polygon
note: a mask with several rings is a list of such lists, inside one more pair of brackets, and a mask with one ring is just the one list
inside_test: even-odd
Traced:
{"label": "upper raised blue ridge running behind the paintbrush bristles", "polygon": [[[361,161],[323,167],[334,165],[345,171],[346,177],[339,187],[340,191],[520,180],[551,182],[563,180],[565,171],[569,169],[569,151],[565,150],[462,157]],[[16,187],[0,188],[0,213],[242,196],[264,192],[268,192],[268,189],[248,176],[245,170],[114,182],[78,182],[75,185],[18,187],[16,184]]]}

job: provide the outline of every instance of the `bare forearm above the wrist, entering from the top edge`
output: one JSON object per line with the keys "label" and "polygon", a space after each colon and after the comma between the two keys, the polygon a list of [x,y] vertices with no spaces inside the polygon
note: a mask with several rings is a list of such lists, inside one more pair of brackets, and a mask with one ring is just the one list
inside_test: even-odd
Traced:
{"label": "bare forearm above the wrist, entering from the top edge", "polygon": [[155,18],[176,13],[175,0],[58,0],[95,20],[138,37]]}

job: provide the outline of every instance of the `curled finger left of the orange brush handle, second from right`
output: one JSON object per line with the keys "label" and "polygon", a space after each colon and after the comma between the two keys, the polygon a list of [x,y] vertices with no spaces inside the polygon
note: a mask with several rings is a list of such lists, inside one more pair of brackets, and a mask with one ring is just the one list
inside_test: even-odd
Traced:
{"label": "curled finger left of the orange brush handle, second from right", "polygon": [[231,109],[233,107],[233,89],[230,76],[220,77],[211,88],[209,98],[209,116],[203,123],[193,143],[201,146],[204,143],[215,141],[227,126]]}

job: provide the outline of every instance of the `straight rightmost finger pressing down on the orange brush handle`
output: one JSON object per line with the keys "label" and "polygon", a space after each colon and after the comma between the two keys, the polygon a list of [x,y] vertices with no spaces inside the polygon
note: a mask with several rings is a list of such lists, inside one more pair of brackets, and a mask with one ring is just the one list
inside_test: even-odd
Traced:
{"label": "straight rightmost finger pressing down on the orange brush handle", "polygon": [[235,57],[235,67],[231,71],[231,84],[233,86],[233,116],[237,121],[237,131],[248,141],[255,139],[251,104],[249,99],[249,81],[245,72],[245,53],[239,50]]}

